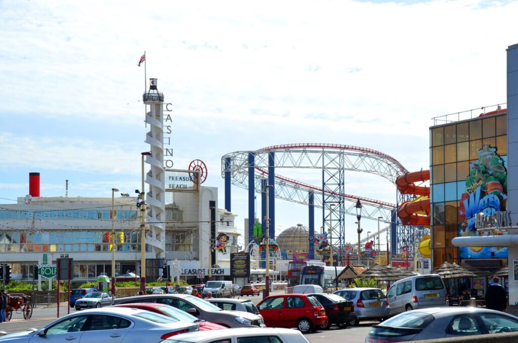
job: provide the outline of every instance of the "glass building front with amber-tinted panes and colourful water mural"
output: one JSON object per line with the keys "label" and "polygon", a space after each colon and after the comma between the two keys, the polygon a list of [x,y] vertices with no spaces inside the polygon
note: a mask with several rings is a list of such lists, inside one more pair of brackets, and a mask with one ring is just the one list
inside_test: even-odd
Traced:
{"label": "glass building front with amber-tinted panes and colourful water mural", "polygon": [[507,109],[502,105],[434,118],[430,127],[431,251],[444,261],[496,271],[507,247],[455,247],[455,237],[476,236],[475,216],[505,211]]}

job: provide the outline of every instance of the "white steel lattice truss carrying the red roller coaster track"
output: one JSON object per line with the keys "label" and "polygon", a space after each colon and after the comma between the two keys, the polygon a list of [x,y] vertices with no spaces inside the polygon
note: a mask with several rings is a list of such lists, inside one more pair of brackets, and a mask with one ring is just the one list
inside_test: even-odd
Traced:
{"label": "white steel lattice truss carrying the red roller coaster track", "polygon": [[[268,153],[275,152],[275,197],[286,201],[308,205],[309,191],[315,192],[314,206],[323,208],[322,223],[325,227],[333,226],[333,245],[344,243],[344,215],[356,216],[356,201],[363,205],[362,219],[390,223],[391,211],[395,204],[344,193],[344,171],[360,171],[379,175],[394,184],[398,175],[407,172],[397,160],[382,152],[362,147],[330,144],[290,144],[272,146],[257,151],[236,151],[222,156],[222,177],[225,171],[225,159],[231,163],[229,171],[231,182],[240,188],[248,189],[248,155],[255,155],[256,193],[261,193],[261,180],[268,177]],[[279,168],[321,169],[322,186],[277,174]],[[331,214],[330,205],[334,204]],[[336,240],[335,240],[336,239]]]}

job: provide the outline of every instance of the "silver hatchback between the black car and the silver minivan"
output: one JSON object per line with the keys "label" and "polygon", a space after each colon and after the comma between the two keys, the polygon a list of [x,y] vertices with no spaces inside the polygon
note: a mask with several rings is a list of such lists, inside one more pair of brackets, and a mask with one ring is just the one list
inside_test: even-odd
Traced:
{"label": "silver hatchback between the black car and the silver minivan", "polygon": [[349,324],[358,325],[361,320],[383,320],[389,318],[390,308],[385,293],[379,288],[347,288],[334,294],[354,304],[354,317]]}

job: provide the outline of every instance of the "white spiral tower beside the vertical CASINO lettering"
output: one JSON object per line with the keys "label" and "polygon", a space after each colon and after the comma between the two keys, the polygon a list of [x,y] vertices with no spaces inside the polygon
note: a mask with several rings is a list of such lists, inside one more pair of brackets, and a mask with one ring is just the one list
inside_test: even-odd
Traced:
{"label": "white spiral tower beside the vertical CASINO lettering", "polygon": [[164,94],[157,90],[156,79],[149,81],[149,91],[142,95],[144,104],[150,108],[146,113],[146,123],[150,125],[146,143],[151,151],[151,155],[146,156],[146,163],[151,166],[146,174],[149,184],[146,243],[154,247],[156,258],[165,258]]}

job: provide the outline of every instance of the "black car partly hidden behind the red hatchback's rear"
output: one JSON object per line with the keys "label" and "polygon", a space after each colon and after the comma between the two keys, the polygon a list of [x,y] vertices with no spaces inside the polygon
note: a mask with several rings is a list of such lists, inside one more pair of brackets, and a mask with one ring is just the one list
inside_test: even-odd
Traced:
{"label": "black car partly hidden behind the red hatchback's rear", "polygon": [[336,294],[311,293],[308,294],[317,299],[324,306],[327,315],[327,323],[320,326],[329,328],[336,324],[339,327],[346,327],[347,323],[354,319],[354,304]]}

